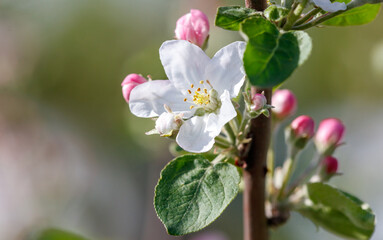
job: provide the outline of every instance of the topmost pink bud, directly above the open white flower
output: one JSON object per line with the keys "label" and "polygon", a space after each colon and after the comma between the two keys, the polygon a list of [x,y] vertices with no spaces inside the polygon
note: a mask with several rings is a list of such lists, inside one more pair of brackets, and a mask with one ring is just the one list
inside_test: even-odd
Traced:
{"label": "topmost pink bud, directly above the open white flower", "polygon": [[203,47],[209,36],[209,19],[197,9],[191,9],[190,13],[183,15],[177,20],[176,39],[186,40]]}

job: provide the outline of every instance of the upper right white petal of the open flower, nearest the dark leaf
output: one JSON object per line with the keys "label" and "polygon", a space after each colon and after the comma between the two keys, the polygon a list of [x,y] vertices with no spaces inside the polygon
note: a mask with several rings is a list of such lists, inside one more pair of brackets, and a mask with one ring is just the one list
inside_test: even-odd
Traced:
{"label": "upper right white petal of the open flower, nearest the dark leaf", "polygon": [[206,77],[219,94],[228,90],[232,98],[238,95],[245,80],[243,53],[245,42],[234,42],[219,50],[209,62]]}

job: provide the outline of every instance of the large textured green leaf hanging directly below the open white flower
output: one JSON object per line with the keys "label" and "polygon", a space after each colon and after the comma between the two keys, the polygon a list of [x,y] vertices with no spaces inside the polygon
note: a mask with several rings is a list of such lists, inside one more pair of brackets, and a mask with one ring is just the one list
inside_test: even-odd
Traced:
{"label": "large textured green leaf hanging directly below the open white flower", "polygon": [[240,176],[229,163],[212,164],[201,155],[184,155],[161,172],[154,206],[171,235],[195,232],[212,223],[234,199]]}

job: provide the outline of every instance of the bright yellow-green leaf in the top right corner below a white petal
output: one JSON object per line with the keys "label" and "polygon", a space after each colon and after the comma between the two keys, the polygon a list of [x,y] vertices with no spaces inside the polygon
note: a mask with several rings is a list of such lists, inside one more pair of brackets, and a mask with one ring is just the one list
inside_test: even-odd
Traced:
{"label": "bright yellow-green leaf in the top right corner below a white petal", "polygon": [[[351,0],[338,0],[337,2],[349,3]],[[349,8],[349,6],[348,6]],[[360,7],[350,9],[334,18],[323,23],[327,26],[352,26],[362,25],[373,21],[378,15],[380,4],[365,4]]]}

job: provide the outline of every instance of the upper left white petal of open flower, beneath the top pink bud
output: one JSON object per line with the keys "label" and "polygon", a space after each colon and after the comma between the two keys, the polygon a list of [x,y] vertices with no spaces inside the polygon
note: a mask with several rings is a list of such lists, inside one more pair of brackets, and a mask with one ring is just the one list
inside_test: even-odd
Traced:
{"label": "upper left white petal of open flower, beneath the top pink bud", "polygon": [[166,75],[184,94],[191,84],[205,79],[205,68],[210,61],[198,46],[184,40],[166,41],[160,48],[160,58]]}

